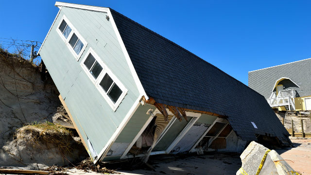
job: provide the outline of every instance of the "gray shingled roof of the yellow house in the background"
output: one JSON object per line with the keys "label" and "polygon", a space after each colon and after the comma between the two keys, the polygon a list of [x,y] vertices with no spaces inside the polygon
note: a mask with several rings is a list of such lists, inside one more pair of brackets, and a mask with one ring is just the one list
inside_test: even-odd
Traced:
{"label": "gray shingled roof of the yellow house in the background", "polygon": [[276,80],[287,77],[300,88],[283,81],[285,89],[295,89],[300,97],[311,95],[311,58],[248,72],[248,86],[269,98]]}

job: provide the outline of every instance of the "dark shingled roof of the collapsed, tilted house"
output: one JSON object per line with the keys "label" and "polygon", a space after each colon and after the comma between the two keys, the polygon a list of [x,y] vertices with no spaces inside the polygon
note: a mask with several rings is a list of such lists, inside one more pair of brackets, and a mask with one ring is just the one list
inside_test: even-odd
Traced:
{"label": "dark shingled roof of the collapsed, tilted house", "polygon": [[163,36],[111,13],[143,88],[156,102],[227,116],[242,140],[266,133],[282,140],[289,136],[262,95]]}

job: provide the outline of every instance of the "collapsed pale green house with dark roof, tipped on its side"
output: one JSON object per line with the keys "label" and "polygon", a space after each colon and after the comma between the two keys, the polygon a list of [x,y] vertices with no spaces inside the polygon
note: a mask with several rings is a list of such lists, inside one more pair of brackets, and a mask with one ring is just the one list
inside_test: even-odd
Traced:
{"label": "collapsed pale green house with dark roof, tipped on its side", "polygon": [[56,2],[38,54],[94,163],[289,144],[265,98],[111,8]]}

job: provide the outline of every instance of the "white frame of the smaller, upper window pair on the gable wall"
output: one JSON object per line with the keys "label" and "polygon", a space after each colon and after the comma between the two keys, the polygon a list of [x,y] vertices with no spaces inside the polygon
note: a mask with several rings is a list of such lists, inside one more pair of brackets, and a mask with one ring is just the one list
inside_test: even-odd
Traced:
{"label": "white frame of the smaller, upper window pair on the gable wall", "polygon": [[[66,39],[65,36],[60,32],[59,30],[59,26],[61,25],[61,23],[63,22],[63,20],[65,20],[65,22],[67,23],[67,25],[69,25],[69,27],[71,28],[71,31],[70,31],[70,34],[68,35],[68,38]],[[58,26],[57,26],[57,29],[56,29],[58,35],[60,35],[60,37],[63,39],[63,41],[65,42],[65,44],[67,45],[67,47],[69,48],[69,51],[73,54],[74,58],[79,61],[82,53],[84,52],[84,50],[86,49],[86,46],[87,46],[87,42],[86,40],[80,35],[80,33],[74,28],[74,26],[71,24],[71,22],[68,20],[68,18],[63,15],[61,21],[59,22]],[[78,39],[81,40],[81,42],[83,43],[83,48],[81,49],[80,53],[77,54],[74,52],[73,47],[71,47],[71,45],[69,44],[69,40],[71,38],[71,36],[73,34],[76,34]]]}

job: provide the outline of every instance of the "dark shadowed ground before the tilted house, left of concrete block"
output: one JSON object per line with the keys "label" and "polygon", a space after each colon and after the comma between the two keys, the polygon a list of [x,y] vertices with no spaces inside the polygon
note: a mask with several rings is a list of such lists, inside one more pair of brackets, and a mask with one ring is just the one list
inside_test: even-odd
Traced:
{"label": "dark shadowed ground before the tilted house, left of concrete block", "polygon": [[[204,156],[163,159],[152,163],[155,171],[119,171],[121,175],[235,175],[241,167],[239,154],[208,153]],[[173,156],[172,156],[173,157]]]}

